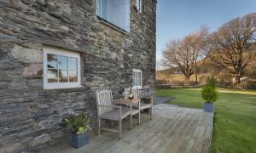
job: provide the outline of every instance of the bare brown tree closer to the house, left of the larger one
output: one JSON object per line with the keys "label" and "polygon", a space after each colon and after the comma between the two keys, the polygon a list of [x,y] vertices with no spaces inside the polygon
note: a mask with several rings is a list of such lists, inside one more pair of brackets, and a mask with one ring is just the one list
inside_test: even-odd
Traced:
{"label": "bare brown tree closer to the house, left of the larger one", "polygon": [[182,40],[173,40],[163,51],[165,66],[178,67],[183,72],[186,81],[199,73],[207,57],[207,28],[189,34]]}

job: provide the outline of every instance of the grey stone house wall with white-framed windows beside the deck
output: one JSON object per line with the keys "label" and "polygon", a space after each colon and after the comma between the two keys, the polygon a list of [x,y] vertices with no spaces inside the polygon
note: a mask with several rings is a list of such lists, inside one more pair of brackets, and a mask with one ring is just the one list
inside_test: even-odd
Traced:
{"label": "grey stone house wall with white-framed windows beside the deck", "polygon": [[155,87],[156,0],[0,0],[0,152],[67,139],[97,89]]}

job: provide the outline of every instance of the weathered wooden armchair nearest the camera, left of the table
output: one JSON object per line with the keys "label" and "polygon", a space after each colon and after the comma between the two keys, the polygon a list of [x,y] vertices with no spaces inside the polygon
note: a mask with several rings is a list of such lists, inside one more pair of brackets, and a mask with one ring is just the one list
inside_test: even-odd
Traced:
{"label": "weathered wooden armchair nearest the camera, left of the table", "polygon": [[[126,116],[131,115],[131,109],[123,108],[121,106],[113,105],[113,97],[111,90],[96,91],[96,105],[97,105],[97,121],[98,121],[98,134],[101,130],[119,133],[119,138],[122,135],[122,120]],[[101,120],[110,120],[119,122],[119,129],[102,128]]]}

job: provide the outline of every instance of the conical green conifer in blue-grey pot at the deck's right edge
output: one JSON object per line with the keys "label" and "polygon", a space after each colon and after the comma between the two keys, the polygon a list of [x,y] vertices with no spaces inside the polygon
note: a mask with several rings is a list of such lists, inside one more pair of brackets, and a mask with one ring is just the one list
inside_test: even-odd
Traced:
{"label": "conical green conifer in blue-grey pot at the deck's right edge", "polygon": [[201,97],[205,99],[204,111],[213,112],[215,102],[218,99],[218,91],[216,89],[216,81],[214,77],[208,77],[206,85],[201,90]]}

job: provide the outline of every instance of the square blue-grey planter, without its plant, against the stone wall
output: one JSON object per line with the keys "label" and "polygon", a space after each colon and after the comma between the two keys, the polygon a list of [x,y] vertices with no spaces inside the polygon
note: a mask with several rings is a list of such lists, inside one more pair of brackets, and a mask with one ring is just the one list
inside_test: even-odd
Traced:
{"label": "square blue-grey planter, without its plant, against the stone wall", "polygon": [[78,149],[85,144],[89,144],[88,136],[88,133],[71,133],[70,145]]}

